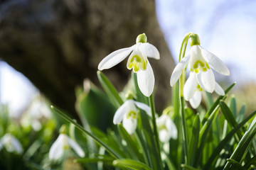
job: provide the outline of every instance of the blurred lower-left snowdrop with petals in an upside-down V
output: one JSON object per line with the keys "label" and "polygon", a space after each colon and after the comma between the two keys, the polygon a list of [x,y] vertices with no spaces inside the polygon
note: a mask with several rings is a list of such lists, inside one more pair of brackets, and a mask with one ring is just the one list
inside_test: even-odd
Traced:
{"label": "blurred lower-left snowdrop with petals in an upside-down V", "polygon": [[80,157],[85,157],[85,152],[83,152],[78,143],[70,139],[68,135],[61,133],[57,140],[50,147],[49,159],[60,159],[60,157],[63,156],[65,150],[69,149],[70,147],[73,148]]}

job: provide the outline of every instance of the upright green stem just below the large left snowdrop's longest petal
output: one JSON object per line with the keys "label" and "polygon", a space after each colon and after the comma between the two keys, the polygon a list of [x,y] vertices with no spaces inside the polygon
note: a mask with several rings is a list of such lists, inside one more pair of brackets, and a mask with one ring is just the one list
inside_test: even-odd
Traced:
{"label": "upright green stem just below the large left snowdrop's longest petal", "polygon": [[154,107],[154,98],[153,95],[151,94],[149,96],[149,105],[151,108],[151,114],[152,114],[152,122],[153,122],[153,128],[154,128],[154,136],[155,136],[155,140],[156,140],[156,146],[157,146],[157,151],[161,160],[161,154],[160,154],[160,145],[159,145],[159,135],[157,132],[157,127],[156,127],[156,110]]}

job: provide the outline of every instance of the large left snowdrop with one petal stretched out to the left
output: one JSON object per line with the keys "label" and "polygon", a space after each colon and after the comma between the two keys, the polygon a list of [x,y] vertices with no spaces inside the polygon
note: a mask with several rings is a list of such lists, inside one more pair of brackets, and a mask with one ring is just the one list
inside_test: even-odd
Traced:
{"label": "large left snowdrop with one petal stretched out to the left", "polygon": [[[131,55],[129,55],[132,52]],[[160,59],[159,51],[154,45],[146,42],[146,35],[140,34],[137,37],[136,44],[132,47],[122,48],[107,55],[99,64],[98,69],[110,69],[122,62],[129,55],[127,68],[137,73],[139,89],[145,96],[150,96],[154,90],[154,73],[147,57]]]}

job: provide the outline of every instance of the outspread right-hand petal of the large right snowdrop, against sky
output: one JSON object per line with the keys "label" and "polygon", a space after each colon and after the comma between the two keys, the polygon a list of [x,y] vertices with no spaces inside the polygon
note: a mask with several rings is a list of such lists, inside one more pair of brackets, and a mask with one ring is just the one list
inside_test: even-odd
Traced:
{"label": "outspread right-hand petal of the large right snowdrop, against sky", "polygon": [[203,58],[206,60],[206,62],[208,62],[211,68],[213,68],[216,72],[226,76],[230,74],[228,67],[225,66],[223,61],[221,61],[217,56],[213,55],[213,53],[203,49],[203,47],[199,47],[201,49]]}

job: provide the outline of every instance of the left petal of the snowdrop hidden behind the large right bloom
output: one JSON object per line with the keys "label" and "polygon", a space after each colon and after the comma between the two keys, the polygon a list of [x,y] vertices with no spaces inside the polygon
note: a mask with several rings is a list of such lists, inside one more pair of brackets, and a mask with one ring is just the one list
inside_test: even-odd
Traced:
{"label": "left petal of the snowdrop hidden behind the large right bloom", "polygon": [[186,80],[186,83],[184,85],[184,90],[183,90],[184,98],[186,101],[188,101],[193,97],[193,94],[195,94],[197,85],[198,85],[198,81],[196,80],[196,76],[191,72],[189,74],[188,79]]}

